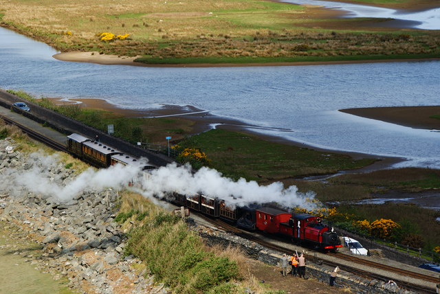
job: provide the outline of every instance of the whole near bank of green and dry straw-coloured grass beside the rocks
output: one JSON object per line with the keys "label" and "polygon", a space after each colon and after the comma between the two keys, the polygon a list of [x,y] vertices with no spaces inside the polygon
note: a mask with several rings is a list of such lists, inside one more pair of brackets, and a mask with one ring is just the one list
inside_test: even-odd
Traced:
{"label": "whole near bank of green and dry straw-coloured grass beside the rocks", "polygon": [[115,220],[130,231],[126,254],[144,261],[146,272],[175,293],[244,293],[245,289],[283,293],[271,291],[250,275],[241,251],[206,246],[184,220],[139,194],[122,194]]}

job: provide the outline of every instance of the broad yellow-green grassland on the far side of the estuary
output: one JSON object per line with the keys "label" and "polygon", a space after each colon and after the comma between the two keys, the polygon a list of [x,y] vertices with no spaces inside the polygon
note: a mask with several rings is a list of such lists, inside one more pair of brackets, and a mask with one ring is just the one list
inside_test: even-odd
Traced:
{"label": "broad yellow-green grassland on the far side of the estuary", "polygon": [[[440,56],[436,31],[386,27],[377,31],[371,27],[379,23],[375,19],[333,19],[334,14],[325,10],[272,1],[12,0],[2,8],[1,25],[62,52],[142,56],[137,61],[149,64]],[[109,33],[105,40],[102,32]]]}

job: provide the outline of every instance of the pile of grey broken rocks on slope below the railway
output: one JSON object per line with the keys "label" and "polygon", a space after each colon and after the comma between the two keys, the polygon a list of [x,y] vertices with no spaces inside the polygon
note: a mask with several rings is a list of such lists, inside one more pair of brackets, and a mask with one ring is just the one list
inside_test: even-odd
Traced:
{"label": "pile of grey broken rocks on slope below the railway", "polygon": [[83,293],[168,293],[153,277],[144,278],[140,260],[123,255],[124,235],[114,221],[118,192],[78,191],[67,202],[36,194],[18,184],[26,170],[36,168],[57,185],[75,177],[62,163],[36,157],[15,150],[12,139],[0,140],[0,220],[41,244],[41,256],[28,261],[56,279],[67,277]]}

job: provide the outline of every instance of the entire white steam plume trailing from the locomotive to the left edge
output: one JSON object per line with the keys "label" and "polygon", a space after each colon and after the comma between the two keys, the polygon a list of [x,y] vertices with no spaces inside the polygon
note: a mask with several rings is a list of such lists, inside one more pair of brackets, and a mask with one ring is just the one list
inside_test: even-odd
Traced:
{"label": "entire white steam plume trailing from the locomotive to the left edge", "polygon": [[[2,190],[19,188],[18,193],[23,188],[27,188],[43,196],[69,201],[86,190],[126,188],[129,181],[140,174],[140,166],[116,165],[100,170],[89,168],[77,177],[70,176],[67,180],[63,180],[63,172],[59,172],[63,170],[60,168],[63,163],[60,163],[56,156],[47,157],[34,153],[26,164],[29,166],[27,170],[23,168],[3,170],[0,188]],[[201,168],[197,172],[192,172],[190,166],[177,166],[175,163],[151,170],[151,174],[144,177],[138,189],[140,194],[151,199],[154,199],[153,196],[166,196],[168,192],[184,195],[202,193],[224,200],[230,206],[275,202],[287,208],[299,206],[311,210],[315,207],[314,203],[307,200],[314,198],[314,192],[300,193],[294,185],[285,189],[280,182],[259,185],[256,181],[245,179],[233,181],[223,177],[217,170]]]}

